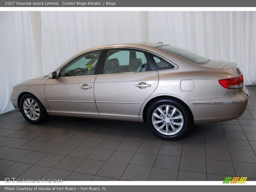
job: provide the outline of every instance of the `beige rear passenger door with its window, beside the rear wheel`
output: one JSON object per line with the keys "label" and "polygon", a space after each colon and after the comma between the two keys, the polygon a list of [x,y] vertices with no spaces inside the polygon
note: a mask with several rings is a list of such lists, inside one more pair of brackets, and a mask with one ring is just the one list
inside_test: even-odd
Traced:
{"label": "beige rear passenger door with its window, beside the rear wheel", "polygon": [[94,94],[99,115],[103,116],[137,118],[142,104],[158,85],[158,73],[143,50],[106,50],[100,72]]}

